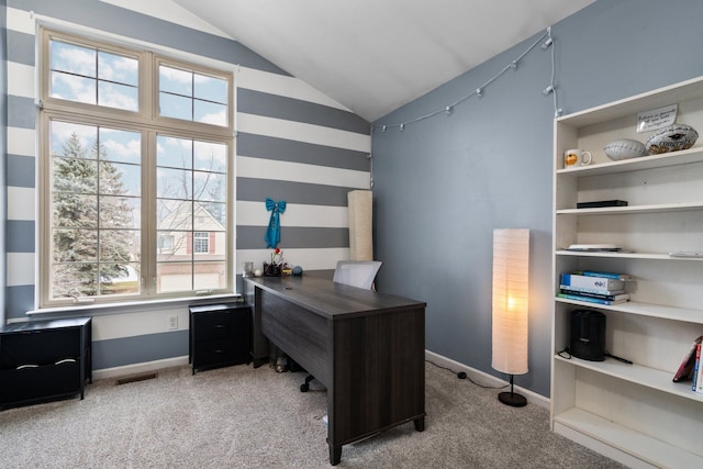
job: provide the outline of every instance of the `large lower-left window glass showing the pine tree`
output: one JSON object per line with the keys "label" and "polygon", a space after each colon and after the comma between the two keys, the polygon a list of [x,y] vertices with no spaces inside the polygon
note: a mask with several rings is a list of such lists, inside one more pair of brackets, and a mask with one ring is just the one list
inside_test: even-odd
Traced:
{"label": "large lower-left window glass showing the pine tree", "polygon": [[52,298],[138,292],[141,200],[126,196],[141,193],[141,169],[110,159],[141,161],[141,134],[59,121],[51,127]]}

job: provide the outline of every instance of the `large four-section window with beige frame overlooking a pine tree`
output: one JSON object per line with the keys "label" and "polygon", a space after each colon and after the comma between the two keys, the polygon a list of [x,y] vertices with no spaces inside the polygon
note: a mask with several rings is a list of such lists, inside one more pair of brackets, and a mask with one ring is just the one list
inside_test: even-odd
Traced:
{"label": "large four-section window with beige frame overlooking a pine tree", "polygon": [[232,291],[232,75],[51,31],[42,54],[41,306]]}

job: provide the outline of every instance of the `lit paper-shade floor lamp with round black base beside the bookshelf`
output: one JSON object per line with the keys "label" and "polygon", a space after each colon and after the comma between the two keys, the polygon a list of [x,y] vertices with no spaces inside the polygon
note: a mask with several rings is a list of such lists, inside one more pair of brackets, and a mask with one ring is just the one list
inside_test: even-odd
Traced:
{"label": "lit paper-shade floor lamp with round black base beside the bookshelf", "polygon": [[493,231],[493,369],[510,375],[510,392],[498,399],[515,407],[527,400],[513,392],[513,375],[527,372],[529,230]]}

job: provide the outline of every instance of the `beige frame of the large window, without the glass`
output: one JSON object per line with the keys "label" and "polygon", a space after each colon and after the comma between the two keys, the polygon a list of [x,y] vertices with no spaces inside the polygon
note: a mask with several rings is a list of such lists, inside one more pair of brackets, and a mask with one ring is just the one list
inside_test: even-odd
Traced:
{"label": "beige frame of the large window, without the glass", "polygon": [[[79,306],[85,300],[91,304],[144,302],[168,298],[189,298],[194,294],[232,294],[234,292],[234,77],[231,71],[219,70],[190,62],[167,57],[143,47],[125,47],[109,41],[98,41],[56,30],[42,29],[40,38],[40,83],[42,110],[40,113],[40,220],[38,220],[38,306],[55,308],[74,304]],[[76,43],[77,45],[98,47],[120,55],[136,57],[140,64],[138,111],[124,111],[93,104],[85,104],[49,96],[49,47],[52,40]],[[161,118],[158,114],[158,66],[176,66],[197,74],[227,80],[227,125],[212,125],[201,122]],[[49,124],[52,120],[75,122],[77,124],[101,125],[108,127],[137,131],[142,134],[142,249],[141,249],[141,292],[129,295],[86,297],[81,299],[52,299],[52,213],[51,196],[51,148]],[[157,292],[158,239],[156,230],[156,139],[157,135],[177,135],[181,138],[213,142],[227,146],[227,193],[226,193],[226,272],[227,282],[223,289],[207,292],[183,290],[179,292]],[[154,220],[150,220],[154,217]],[[197,261],[193,259],[193,261]]]}

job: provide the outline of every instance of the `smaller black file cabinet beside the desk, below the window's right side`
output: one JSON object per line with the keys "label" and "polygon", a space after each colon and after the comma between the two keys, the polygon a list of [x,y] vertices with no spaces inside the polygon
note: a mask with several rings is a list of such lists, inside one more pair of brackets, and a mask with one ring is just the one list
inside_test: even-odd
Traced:
{"label": "smaller black file cabinet beside the desk, below the window's right side", "polygon": [[190,308],[189,359],[196,371],[248,364],[250,308],[244,303]]}

